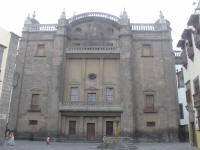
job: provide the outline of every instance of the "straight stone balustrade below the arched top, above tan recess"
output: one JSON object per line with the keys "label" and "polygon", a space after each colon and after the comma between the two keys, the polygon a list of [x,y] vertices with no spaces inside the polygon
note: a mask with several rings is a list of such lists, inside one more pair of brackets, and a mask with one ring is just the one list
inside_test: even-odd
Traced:
{"label": "straight stone balustrade below the arched top, above tan recess", "polygon": [[118,47],[113,46],[90,46],[90,47],[70,47],[66,53],[120,53]]}

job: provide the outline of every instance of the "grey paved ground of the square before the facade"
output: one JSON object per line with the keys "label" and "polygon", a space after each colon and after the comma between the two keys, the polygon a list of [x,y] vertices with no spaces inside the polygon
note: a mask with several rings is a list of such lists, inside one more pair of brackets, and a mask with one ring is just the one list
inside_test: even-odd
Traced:
{"label": "grey paved ground of the square before the facade", "polygon": [[[61,143],[45,145],[41,141],[15,141],[14,146],[0,146],[0,150],[97,150],[98,143]],[[136,143],[137,150],[199,150],[188,143]]]}

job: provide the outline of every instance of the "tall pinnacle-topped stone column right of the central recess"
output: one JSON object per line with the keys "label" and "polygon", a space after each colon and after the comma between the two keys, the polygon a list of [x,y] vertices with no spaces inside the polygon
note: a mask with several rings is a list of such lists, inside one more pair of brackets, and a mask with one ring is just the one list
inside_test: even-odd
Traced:
{"label": "tall pinnacle-topped stone column right of the central recess", "polygon": [[130,22],[126,11],[120,16],[120,100],[123,104],[121,115],[121,135],[132,136],[135,132],[135,117],[133,114],[133,74],[132,51],[133,39]]}

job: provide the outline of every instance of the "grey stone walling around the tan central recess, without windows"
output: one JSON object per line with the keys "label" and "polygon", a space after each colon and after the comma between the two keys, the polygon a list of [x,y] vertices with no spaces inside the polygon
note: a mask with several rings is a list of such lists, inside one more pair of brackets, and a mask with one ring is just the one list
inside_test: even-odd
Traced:
{"label": "grey stone walling around the tan central recess, without windows", "polygon": [[[117,58],[120,61],[119,95],[123,110],[120,135],[137,137],[138,140],[170,141],[177,138],[177,91],[170,28],[166,26],[163,31],[133,31],[126,17],[121,19],[121,25],[116,24],[98,18],[68,24],[65,18],[61,18],[56,31],[23,32],[15,70],[19,79],[13,91],[9,121],[9,126],[16,130],[18,137],[28,138],[33,134],[38,137],[61,136],[64,124],[62,115],[68,113],[59,111],[59,105],[67,97],[65,87],[69,84],[65,74],[69,58],[65,49],[113,43],[112,46],[120,48],[120,57]],[[107,28],[113,34],[108,34]],[[45,44],[44,57],[35,56],[38,44]],[[144,44],[151,45],[152,56],[142,55]],[[101,57],[105,55],[107,59],[110,56],[104,54]],[[83,54],[77,56],[82,59]],[[95,56],[99,58],[100,54],[92,55],[93,58]],[[84,57],[90,57],[90,54],[84,54]],[[40,93],[39,112],[30,111],[34,92]],[[154,112],[144,111],[145,92],[154,94]],[[96,113],[99,115],[99,112]],[[96,117],[96,120],[100,121],[101,117]],[[29,125],[31,119],[38,120],[38,125]],[[147,127],[148,121],[155,122],[155,127]],[[82,132],[80,125],[79,128],[78,131]],[[105,129],[105,125],[101,128]],[[102,129],[96,129],[98,136],[101,136]]]}

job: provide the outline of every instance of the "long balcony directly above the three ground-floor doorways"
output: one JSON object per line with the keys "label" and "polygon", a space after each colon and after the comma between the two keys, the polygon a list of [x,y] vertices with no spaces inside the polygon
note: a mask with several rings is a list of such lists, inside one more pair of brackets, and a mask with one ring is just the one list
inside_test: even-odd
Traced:
{"label": "long balcony directly above the three ground-floor doorways", "polygon": [[65,101],[60,103],[59,111],[87,111],[87,112],[122,112],[120,102],[88,102],[88,101]]}

